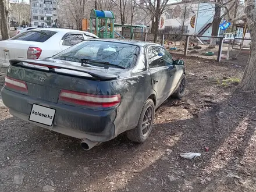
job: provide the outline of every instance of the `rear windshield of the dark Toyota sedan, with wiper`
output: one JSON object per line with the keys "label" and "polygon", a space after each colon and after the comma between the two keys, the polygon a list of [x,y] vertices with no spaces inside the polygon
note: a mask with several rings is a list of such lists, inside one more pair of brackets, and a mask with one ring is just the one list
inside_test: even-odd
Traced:
{"label": "rear windshield of the dark Toyota sedan, with wiper", "polygon": [[83,41],[55,55],[54,59],[81,62],[106,62],[120,67],[132,67],[139,53],[137,45],[110,41]]}

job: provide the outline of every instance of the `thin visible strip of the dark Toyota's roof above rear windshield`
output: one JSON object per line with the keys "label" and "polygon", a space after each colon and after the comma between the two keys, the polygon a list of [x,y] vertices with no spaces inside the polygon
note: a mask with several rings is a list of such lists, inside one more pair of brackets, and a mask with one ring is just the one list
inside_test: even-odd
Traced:
{"label": "thin visible strip of the dark Toyota's roof above rear windshield", "polygon": [[129,39],[124,39],[124,40],[119,40],[119,39],[101,39],[101,38],[97,38],[97,39],[90,39],[90,40],[86,40],[86,41],[106,41],[106,42],[119,42],[119,43],[124,43],[124,44],[131,44],[131,45],[137,45],[140,47],[145,47],[148,45],[157,45],[157,46],[161,46],[159,44],[155,44],[154,42],[147,42],[147,41],[138,41],[138,40],[129,40]]}

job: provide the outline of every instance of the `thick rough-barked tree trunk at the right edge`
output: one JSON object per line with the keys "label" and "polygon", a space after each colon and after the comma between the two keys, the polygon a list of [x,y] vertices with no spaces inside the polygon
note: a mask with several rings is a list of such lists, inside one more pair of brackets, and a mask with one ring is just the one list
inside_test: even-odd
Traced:
{"label": "thick rough-barked tree trunk at the right edge", "polygon": [[244,91],[256,91],[256,6],[248,1],[246,7],[247,24],[251,35],[251,52],[239,88]]}

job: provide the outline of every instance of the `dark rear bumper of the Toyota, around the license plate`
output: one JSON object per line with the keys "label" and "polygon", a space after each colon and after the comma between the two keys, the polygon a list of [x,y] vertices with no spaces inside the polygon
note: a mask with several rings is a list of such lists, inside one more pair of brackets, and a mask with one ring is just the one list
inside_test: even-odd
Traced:
{"label": "dark rear bumper of the Toyota, around the license plate", "polygon": [[[95,142],[104,142],[115,137],[114,120],[116,109],[95,111],[76,106],[42,101],[27,95],[2,88],[2,101],[9,112],[17,118],[37,126],[76,138],[87,138]],[[29,120],[33,104],[56,109],[53,126],[45,126]]]}

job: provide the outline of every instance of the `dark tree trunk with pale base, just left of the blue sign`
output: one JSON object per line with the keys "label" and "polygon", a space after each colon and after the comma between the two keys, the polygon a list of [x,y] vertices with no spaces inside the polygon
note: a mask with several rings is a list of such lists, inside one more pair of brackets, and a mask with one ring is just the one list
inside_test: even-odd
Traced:
{"label": "dark tree trunk with pale base, just left of the blue sign", "polygon": [[[212,21],[212,36],[218,36],[219,23],[221,23],[221,7],[215,5],[214,20]],[[216,41],[216,38],[211,38],[209,48],[215,48]]]}

